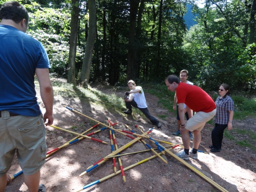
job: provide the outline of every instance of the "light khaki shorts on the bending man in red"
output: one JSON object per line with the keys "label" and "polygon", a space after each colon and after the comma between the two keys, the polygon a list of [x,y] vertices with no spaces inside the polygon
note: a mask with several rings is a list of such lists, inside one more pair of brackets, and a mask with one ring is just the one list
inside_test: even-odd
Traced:
{"label": "light khaki shorts on the bending man in red", "polygon": [[185,129],[187,129],[190,132],[193,132],[194,130],[201,131],[207,121],[212,119],[216,114],[216,109],[209,112],[197,112],[195,115],[193,115],[190,119],[187,121],[187,125],[185,126]]}

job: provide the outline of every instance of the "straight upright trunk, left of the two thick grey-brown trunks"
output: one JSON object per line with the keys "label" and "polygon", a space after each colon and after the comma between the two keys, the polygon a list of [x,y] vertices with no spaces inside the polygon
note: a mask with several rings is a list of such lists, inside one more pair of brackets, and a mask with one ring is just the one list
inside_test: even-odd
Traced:
{"label": "straight upright trunk, left of the two thick grey-brown trunks", "polygon": [[76,41],[78,31],[79,0],[72,0],[71,32],[69,41],[68,82],[76,84]]}

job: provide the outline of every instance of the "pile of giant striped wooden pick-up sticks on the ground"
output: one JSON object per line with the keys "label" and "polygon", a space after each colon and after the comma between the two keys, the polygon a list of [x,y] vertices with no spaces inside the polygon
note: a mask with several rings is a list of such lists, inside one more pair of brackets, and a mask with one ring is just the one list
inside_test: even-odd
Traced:
{"label": "pile of giant striped wooden pick-up sticks on the ground", "polygon": [[[69,131],[69,130],[66,130],[66,129],[61,129],[60,127],[57,127],[57,126],[54,126],[54,125],[50,125],[52,127],[54,127],[55,129],[58,129],[58,130],[61,130],[61,131],[65,131],[65,132],[69,132],[69,133],[72,133],[72,134],[75,134],[77,135],[77,137],[73,138],[72,140],[70,140],[69,142],[55,148],[54,150],[51,150],[49,152],[47,152],[47,156],[46,158],[48,158],[50,155],[52,155],[53,153],[57,152],[58,150],[60,150],[61,148],[65,147],[65,146],[68,146],[74,142],[77,142],[79,140],[82,140],[84,138],[87,138],[87,139],[91,139],[91,140],[94,140],[94,141],[97,141],[97,142],[101,142],[101,143],[104,143],[104,144],[108,144],[107,142],[104,142],[104,141],[101,141],[99,139],[95,139],[93,137],[90,137],[91,135],[95,134],[95,133],[98,133],[102,130],[105,130],[107,128],[109,128],[109,131],[110,131],[110,140],[111,140],[111,150],[112,150],[112,153],[109,154],[108,156],[100,159],[99,161],[97,161],[96,163],[94,163],[93,165],[89,166],[83,173],[81,173],[79,176],[83,176],[87,173],[89,173],[91,170],[93,170],[94,168],[98,167],[99,165],[101,165],[102,163],[104,163],[105,161],[108,161],[109,159],[112,159],[113,160],[113,165],[114,165],[114,173],[111,174],[111,175],[108,175],[104,178],[101,178],[95,182],[92,182],[88,185],[85,185],[83,187],[81,187],[80,189],[76,190],[77,192],[78,191],[81,191],[83,189],[86,189],[90,186],[93,186],[97,183],[100,183],[106,179],[109,179],[111,177],[114,177],[116,175],[119,175],[121,173],[122,175],[122,178],[123,178],[123,181],[125,182],[126,181],[126,178],[125,178],[125,170],[128,170],[130,168],[133,168],[137,165],[140,165],[141,163],[144,163],[148,160],[151,160],[153,158],[160,158],[164,163],[167,163],[167,161],[161,156],[161,155],[164,155],[165,152],[167,154],[169,154],[170,156],[172,156],[173,158],[175,158],[176,160],[178,160],[179,162],[181,162],[182,164],[184,164],[186,167],[188,167],[189,169],[193,170],[193,172],[195,172],[197,175],[199,175],[200,177],[202,177],[203,179],[205,179],[208,183],[210,183],[211,185],[215,186],[217,189],[219,189],[220,191],[227,191],[225,188],[223,188],[222,186],[220,186],[219,184],[217,184],[216,182],[212,181],[211,179],[209,179],[208,177],[206,177],[204,174],[202,174],[201,172],[199,172],[199,170],[197,170],[196,168],[194,168],[193,166],[189,165],[188,163],[186,163],[184,160],[180,159],[179,157],[177,157],[175,154],[173,154],[172,152],[170,152],[171,149],[177,147],[177,146],[180,146],[180,147],[183,147],[182,145],[179,145],[179,144],[174,144],[174,143],[170,143],[170,142],[167,142],[167,141],[162,141],[162,140],[159,140],[159,139],[155,139],[155,138],[152,138],[150,136],[148,136],[148,134],[150,134],[154,128],[150,129],[149,131],[147,132],[143,132],[139,126],[135,125],[139,131],[141,132],[141,135],[139,134],[136,134],[129,126],[125,125],[129,130],[130,132],[127,132],[127,131],[124,131],[124,130],[117,130],[117,129],[114,129],[113,128],[113,125],[117,124],[117,123],[111,123],[110,119],[109,119],[109,125],[106,125],[102,122],[99,122],[91,117],[88,117],[78,111],[75,111],[73,110],[72,108],[69,108],[68,106],[65,106],[65,108],[67,108],[68,110],[74,112],[74,113],[77,113],[77,114],[80,114],[84,117],[87,117],[95,122],[97,122],[97,124],[95,124],[94,126],[92,126],[90,129],[88,129],[87,131],[83,132],[82,134],[78,134],[78,133],[75,133],[75,132],[72,132],[72,131]],[[90,133],[90,134],[87,134],[87,135],[84,135],[86,134],[87,132],[89,132],[90,130],[94,129],[96,126],[98,126],[99,124],[103,125],[104,127],[98,131],[95,131],[93,133]],[[122,135],[125,135],[129,138],[131,138],[132,140],[128,143],[126,143],[125,145],[123,145],[122,147],[118,148],[117,146],[117,142],[116,142],[116,138],[115,138],[115,132],[118,132]],[[135,137],[132,137],[131,135],[135,136]],[[148,145],[146,143],[146,141],[144,139],[148,139],[150,142],[154,143],[157,147],[156,148],[152,148],[150,145]],[[132,144],[136,143],[136,142],[142,142],[145,146],[148,147],[148,150],[144,150],[144,151],[139,151],[139,152],[133,152],[133,153],[127,153],[127,154],[120,154],[120,152],[122,152],[123,150],[125,150],[126,148],[130,147]],[[159,144],[159,142],[162,142],[162,143],[165,143],[165,144],[168,144],[168,146],[162,146],[161,144]],[[157,153],[155,150],[159,150],[160,153]],[[121,162],[121,156],[124,156],[124,155],[130,155],[130,154],[136,154],[136,153],[141,153],[141,152],[146,152],[146,151],[152,151],[155,155],[154,156],[151,156],[149,158],[146,158],[142,161],[139,161],[139,162],[136,162],[135,164],[133,165],[130,165],[128,167],[125,167],[123,168],[122,166],[122,162]],[[203,151],[199,151],[201,153],[206,153],[208,154],[207,152],[203,152]],[[115,158],[118,158],[118,162],[119,162],[119,166],[120,166],[120,170],[117,171],[116,169],[116,159]],[[17,176],[21,175],[23,172],[19,172],[17,174],[15,174],[14,176],[11,177],[11,179],[14,179],[16,178]]]}

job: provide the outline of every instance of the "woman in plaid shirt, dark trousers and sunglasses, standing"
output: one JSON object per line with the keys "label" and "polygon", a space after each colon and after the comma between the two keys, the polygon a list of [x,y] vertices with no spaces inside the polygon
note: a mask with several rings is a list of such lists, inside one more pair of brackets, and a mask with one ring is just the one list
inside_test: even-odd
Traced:
{"label": "woman in plaid shirt, dark trousers and sunglasses, standing", "polygon": [[215,115],[215,127],[211,132],[212,145],[211,152],[216,153],[221,151],[221,144],[223,139],[223,133],[226,127],[228,130],[232,129],[232,119],[234,115],[234,102],[229,97],[230,88],[226,83],[221,84],[219,88],[220,96],[216,99],[216,115]]}

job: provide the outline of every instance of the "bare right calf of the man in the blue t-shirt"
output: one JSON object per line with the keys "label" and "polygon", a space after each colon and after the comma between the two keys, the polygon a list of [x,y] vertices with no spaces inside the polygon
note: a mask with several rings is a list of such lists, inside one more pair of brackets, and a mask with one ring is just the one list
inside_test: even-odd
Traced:
{"label": "bare right calf of the man in the blue t-shirt", "polygon": [[38,192],[40,182],[40,170],[33,175],[24,175],[23,180],[29,188],[29,192]]}

